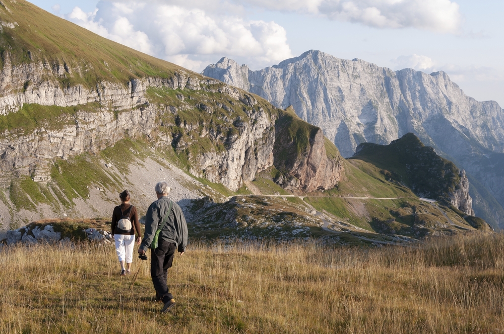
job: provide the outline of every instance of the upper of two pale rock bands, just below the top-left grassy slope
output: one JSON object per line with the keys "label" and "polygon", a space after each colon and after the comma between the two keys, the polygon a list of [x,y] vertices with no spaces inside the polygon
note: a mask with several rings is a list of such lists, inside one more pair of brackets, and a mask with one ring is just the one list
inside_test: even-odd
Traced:
{"label": "upper of two pale rock bands, just below the top-left grassy slope", "polygon": [[145,77],[132,78],[125,84],[101,81],[93,89],[83,85],[65,86],[61,76],[79,75],[84,69],[71,71],[66,63],[11,63],[9,52],[4,52],[4,67],[0,71],[0,115],[17,112],[24,104],[70,107],[99,103],[114,110],[132,109],[147,102],[145,93],[149,87],[170,89],[200,88],[200,79],[184,71],[176,72],[169,79]]}

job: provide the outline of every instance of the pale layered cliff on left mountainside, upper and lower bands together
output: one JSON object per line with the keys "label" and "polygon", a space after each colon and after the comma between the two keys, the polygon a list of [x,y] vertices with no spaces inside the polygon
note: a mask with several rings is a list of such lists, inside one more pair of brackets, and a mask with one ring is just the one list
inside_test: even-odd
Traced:
{"label": "pale layered cliff on left mountainside, upper and lower bands together", "polygon": [[[9,53],[5,54],[9,59]],[[16,66],[6,62],[0,75],[0,86],[5,89],[0,98],[0,114],[15,113],[26,103],[63,108],[82,106],[81,110],[77,107],[75,115],[63,114],[58,125],[42,123],[31,133],[14,129],[0,135],[0,169],[29,170],[35,175],[56,157],[66,159],[83,152],[98,152],[125,137],[150,135],[158,126],[158,111],[147,101],[148,88],[200,88],[200,79],[185,71],[169,79],[132,79],[127,87],[101,82],[96,91],[86,91],[82,86],[61,89],[55,81],[57,71],[51,72],[42,64]],[[33,82],[25,92],[19,92],[22,77]],[[86,107],[89,103],[98,103],[98,106]],[[37,176],[37,181],[49,181],[44,177],[47,175]]]}

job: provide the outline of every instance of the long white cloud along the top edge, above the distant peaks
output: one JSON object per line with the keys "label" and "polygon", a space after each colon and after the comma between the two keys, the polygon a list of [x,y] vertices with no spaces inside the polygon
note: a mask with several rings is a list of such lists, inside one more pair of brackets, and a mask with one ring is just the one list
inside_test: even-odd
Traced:
{"label": "long white cloud along the top edge, above the distant peaks", "polygon": [[459,5],[450,0],[234,0],[243,6],[310,13],[376,28],[459,33]]}

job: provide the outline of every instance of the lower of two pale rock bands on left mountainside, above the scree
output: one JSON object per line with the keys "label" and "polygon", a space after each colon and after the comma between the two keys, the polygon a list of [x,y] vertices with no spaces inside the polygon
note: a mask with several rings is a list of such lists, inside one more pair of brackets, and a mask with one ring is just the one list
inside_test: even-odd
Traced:
{"label": "lower of two pale rock bands on left mountainside, above the scree", "polygon": [[[36,170],[59,157],[67,159],[83,152],[98,152],[130,136],[149,135],[157,126],[157,111],[151,106],[114,115],[111,111],[80,111],[66,116],[59,129],[36,128],[27,135],[5,133],[0,139],[0,169]],[[37,180],[37,181],[49,181]]]}

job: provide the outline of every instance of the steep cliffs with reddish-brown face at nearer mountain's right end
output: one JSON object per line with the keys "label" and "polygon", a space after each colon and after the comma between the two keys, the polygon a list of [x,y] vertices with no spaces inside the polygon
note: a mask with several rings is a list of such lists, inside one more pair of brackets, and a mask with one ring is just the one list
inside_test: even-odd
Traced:
{"label": "steep cliffs with reddish-brown face at nearer mountain's right end", "polygon": [[[192,174],[223,184],[233,191],[238,190],[243,181],[255,180],[260,172],[273,165],[283,171],[283,177],[275,179],[275,182],[286,189],[329,189],[339,182],[343,169],[341,156],[329,143],[336,154],[333,158],[328,157],[325,147],[327,143],[320,129],[298,119],[295,122],[307,131],[288,138],[286,134],[290,131],[292,120],[286,112],[268,112],[254,96],[243,94],[234,88],[227,88],[227,94],[247,107],[241,108],[246,117],[236,116],[226,104],[206,101],[208,105],[203,103],[204,106],[200,104],[199,108],[207,110],[211,116],[206,116],[206,119],[198,124],[190,124],[189,120],[183,118],[177,122],[179,127],[185,129],[186,134],[172,134],[175,150],[190,150],[190,147],[201,145],[199,143],[204,143],[206,139],[212,144],[195,156],[190,153]],[[216,108],[211,107],[211,104],[215,104]],[[233,108],[235,107],[236,105]],[[180,108],[190,106],[182,104],[178,107],[179,110]],[[219,109],[227,114],[218,116]],[[234,121],[229,119],[231,117]],[[289,119],[286,124],[285,118]],[[212,124],[219,122],[225,123],[214,129]],[[279,122],[285,126],[275,126]],[[195,129],[199,129],[198,136],[191,135]],[[314,134],[313,137],[310,137],[310,131]],[[301,154],[296,151],[300,141],[309,141],[309,145],[306,145]],[[219,144],[224,145],[226,149],[215,149]],[[287,151],[290,153],[286,154]],[[286,157],[290,162],[286,163]]]}

